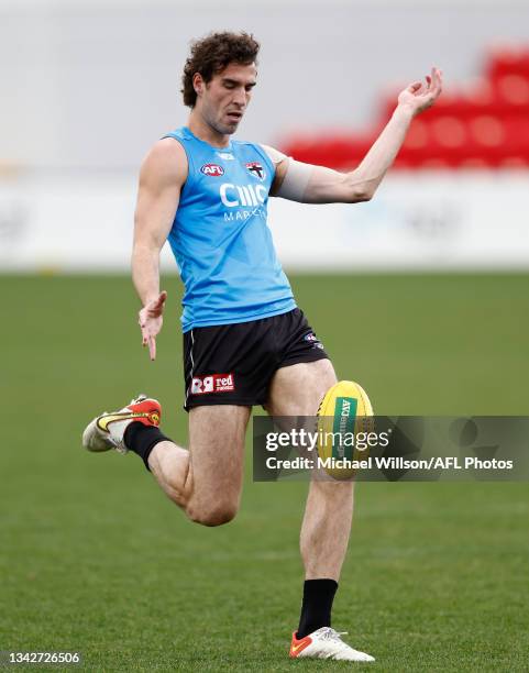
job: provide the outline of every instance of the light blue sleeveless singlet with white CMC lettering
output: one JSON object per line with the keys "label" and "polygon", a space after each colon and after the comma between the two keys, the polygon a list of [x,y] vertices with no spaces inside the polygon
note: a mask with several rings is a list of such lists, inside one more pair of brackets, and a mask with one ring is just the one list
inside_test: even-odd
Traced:
{"label": "light blue sleeveless singlet with white CMC lettering", "polygon": [[233,140],[213,147],[187,128],[165,137],[181,143],[189,164],[168,235],[185,286],[184,332],[296,308],[266,223],[274,165],[264,150]]}

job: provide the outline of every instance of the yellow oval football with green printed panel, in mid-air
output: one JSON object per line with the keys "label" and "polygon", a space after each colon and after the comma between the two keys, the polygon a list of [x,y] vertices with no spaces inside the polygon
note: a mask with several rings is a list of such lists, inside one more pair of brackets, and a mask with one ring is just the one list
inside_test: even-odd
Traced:
{"label": "yellow oval football with green printed panel, in mid-air", "polygon": [[353,461],[368,457],[365,439],[374,430],[373,407],[366,391],[352,380],[340,380],[323,396],[318,409],[320,466],[335,479],[354,476]]}

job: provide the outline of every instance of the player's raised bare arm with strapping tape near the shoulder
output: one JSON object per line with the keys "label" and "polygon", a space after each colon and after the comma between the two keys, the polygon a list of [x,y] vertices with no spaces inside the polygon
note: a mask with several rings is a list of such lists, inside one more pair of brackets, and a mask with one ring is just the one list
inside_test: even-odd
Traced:
{"label": "player's raised bare arm with strapping tape near the shoulder", "polygon": [[276,163],[272,196],[305,203],[368,201],[395,161],[414,117],[431,107],[441,93],[440,70],[432,68],[426,80],[426,84],[416,81],[401,91],[392,119],[360,166],[351,173],[302,164],[266,148]]}

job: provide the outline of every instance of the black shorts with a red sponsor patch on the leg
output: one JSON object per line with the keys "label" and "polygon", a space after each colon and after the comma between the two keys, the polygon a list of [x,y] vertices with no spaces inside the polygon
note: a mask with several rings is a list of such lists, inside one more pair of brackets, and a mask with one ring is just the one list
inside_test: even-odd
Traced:
{"label": "black shorts with a red sponsor patch on the leg", "polygon": [[328,357],[298,308],[250,322],[195,328],[184,334],[184,408],[264,405],[277,369]]}

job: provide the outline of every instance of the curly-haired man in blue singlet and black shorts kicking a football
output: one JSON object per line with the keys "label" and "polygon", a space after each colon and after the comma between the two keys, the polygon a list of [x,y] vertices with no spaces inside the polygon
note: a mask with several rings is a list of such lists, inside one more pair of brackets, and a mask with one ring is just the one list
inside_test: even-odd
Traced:
{"label": "curly-haired man in blue singlet and black shorts kicking a football", "polygon": [[[141,168],[132,255],[143,305],[139,322],[154,360],[167,298],[159,290],[158,260],[168,240],[185,286],[189,449],[162,433],[161,406],[143,396],[98,416],[82,435],[90,451],[137,453],[167,496],[205,526],[227,523],[238,511],[252,407],[263,405],[273,416],[315,416],[337,383],[277,261],[266,221],[268,197],[305,203],[370,200],[411,120],[441,92],[436,68],[425,84],[406,88],[355,170],[310,166],[231,137],[256,84],[258,48],[245,33],[213,33],[192,45],[183,77],[188,124],[155,143]],[[301,617],[291,657],[374,661],[331,628],[352,512],[352,483],[310,483],[300,534]]]}

